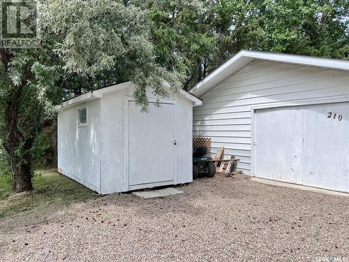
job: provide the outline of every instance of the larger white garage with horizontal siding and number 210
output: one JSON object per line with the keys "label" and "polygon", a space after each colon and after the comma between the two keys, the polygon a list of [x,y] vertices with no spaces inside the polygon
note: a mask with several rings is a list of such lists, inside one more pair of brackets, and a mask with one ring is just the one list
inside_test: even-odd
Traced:
{"label": "larger white garage with horizontal siding and number 210", "polygon": [[[349,192],[349,61],[242,51],[198,83],[193,135],[244,173]],[[225,156],[226,157],[226,156]]]}

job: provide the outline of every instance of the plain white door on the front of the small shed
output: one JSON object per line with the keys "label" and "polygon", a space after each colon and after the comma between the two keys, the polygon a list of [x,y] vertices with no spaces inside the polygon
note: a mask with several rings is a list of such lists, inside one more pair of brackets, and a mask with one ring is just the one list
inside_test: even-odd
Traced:
{"label": "plain white door on the front of the small shed", "polygon": [[129,189],[174,182],[174,124],[174,104],[149,103],[145,113],[128,101]]}

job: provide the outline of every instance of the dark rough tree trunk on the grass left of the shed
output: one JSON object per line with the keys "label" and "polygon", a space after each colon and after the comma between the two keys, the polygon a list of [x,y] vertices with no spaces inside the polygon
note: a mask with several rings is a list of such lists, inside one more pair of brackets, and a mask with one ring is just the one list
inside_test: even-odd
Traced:
{"label": "dark rough tree trunk on the grass left of the shed", "polygon": [[[13,175],[12,189],[15,192],[29,191],[33,189],[31,183],[31,145],[32,140],[24,141],[22,133],[18,129],[20,120],[19,102],[23,87],[19,87],[6,106],[5,128],[7,132],[4,147],[8,153],[10,170]],[[21,145],[21,143],[24,143]],[[17,149],[22,146],[22,156],[17,155]]]}

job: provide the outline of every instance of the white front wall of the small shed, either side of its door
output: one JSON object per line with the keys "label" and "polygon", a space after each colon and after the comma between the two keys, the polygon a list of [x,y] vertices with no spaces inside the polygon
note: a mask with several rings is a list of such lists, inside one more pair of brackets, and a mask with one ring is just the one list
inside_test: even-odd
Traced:
{"label": "white front wall of the small shed, either side of its door", "polygon": [[[124,98],[132,96],[133,91],[134,86],[131,85],[131,87],[106,94],[101,99],[102,194],[127,191],[124,189],[124,185],[128,184],[127,177],[124,175]],[[149,92],[148,97],[152,99],[154,95]],[[177,182],[191,182],[193,103],[172,92],[167,99],[177,101]]]}

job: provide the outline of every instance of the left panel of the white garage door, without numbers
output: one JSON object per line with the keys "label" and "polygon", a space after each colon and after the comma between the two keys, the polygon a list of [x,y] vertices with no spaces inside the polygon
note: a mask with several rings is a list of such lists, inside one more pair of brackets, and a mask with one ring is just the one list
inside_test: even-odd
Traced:
{"label": "left panel of the white garage door, without numbers", "polygon": [[255,176],[302,183],[302,110],[255,112]]}

